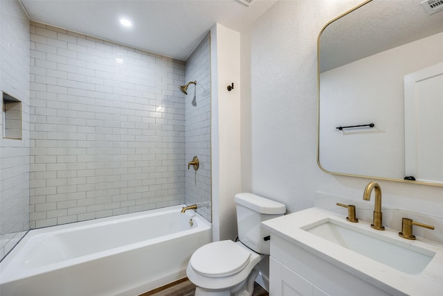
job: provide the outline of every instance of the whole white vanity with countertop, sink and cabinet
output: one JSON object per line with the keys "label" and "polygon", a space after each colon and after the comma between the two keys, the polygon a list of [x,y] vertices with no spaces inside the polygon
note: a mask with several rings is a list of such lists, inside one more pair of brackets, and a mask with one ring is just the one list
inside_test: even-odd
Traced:
{"label": "whole white vanity with countertop, sink and cabinet", "polygon": [[262,223],[270,295],[442,295],[443,244],[313,207]]}

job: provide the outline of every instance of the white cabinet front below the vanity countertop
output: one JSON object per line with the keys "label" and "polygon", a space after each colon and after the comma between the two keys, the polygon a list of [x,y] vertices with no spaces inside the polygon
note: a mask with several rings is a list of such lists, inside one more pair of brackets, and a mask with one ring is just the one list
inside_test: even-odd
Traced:
{"label": "white cabinet front below the vanity countertop", "polygon": [[275,235],[271,236],[269,289],[273,296],[391,295]]}

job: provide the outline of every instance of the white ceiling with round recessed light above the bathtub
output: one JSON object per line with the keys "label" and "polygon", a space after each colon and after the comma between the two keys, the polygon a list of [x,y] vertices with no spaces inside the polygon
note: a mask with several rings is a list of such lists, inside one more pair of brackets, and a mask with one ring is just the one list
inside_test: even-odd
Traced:
{"label": "white ceiling with round recessed light above the bathtub", "polygon": [[[216,23],[242,31],[276,0],[21,0],[31,20],[186,60]],[[134,26],[124,28],[119,19]]]}

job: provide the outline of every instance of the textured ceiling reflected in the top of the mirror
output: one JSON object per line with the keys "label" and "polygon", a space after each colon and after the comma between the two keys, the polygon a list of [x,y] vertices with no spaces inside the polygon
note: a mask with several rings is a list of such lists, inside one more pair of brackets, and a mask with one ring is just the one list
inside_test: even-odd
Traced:
{"label": "textured ceiling reflected in the top of the mirror", "polygon": [[320,72],[442,32],[443,10],[428,15],[422,1],[372,0],[329,24],[320,37]]}

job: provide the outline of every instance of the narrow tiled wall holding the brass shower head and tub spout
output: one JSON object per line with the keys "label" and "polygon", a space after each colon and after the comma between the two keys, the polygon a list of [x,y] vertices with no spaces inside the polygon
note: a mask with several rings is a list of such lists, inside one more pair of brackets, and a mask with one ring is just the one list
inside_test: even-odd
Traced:
{"label": "narrow tiled wall holding the brass shower head and tub spout", "polygon": [[[210,153],[210,34],[186,60],[186,83],[190,85],[186,105],[186,161],[199,157],[199,169],[186,170],[186,204],[197,204],[197,212],[211,220]],[[194,98],[197,103],[192,105]]]}

